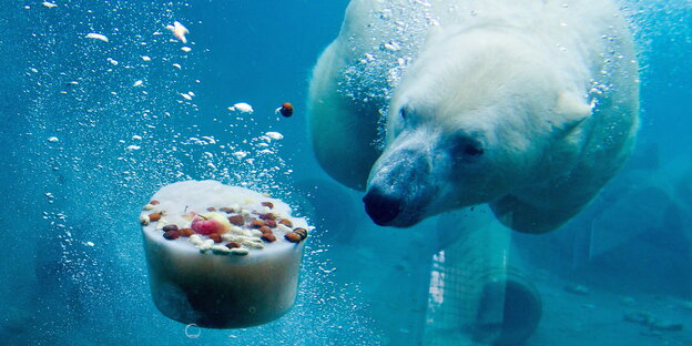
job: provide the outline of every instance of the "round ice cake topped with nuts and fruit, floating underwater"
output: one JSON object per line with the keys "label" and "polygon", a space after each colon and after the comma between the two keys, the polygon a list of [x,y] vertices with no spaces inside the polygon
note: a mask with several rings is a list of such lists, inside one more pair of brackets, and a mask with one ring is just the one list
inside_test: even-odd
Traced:
{"label": "round ice cake topped with nuts and fruit, floating underwater", "polygon": [[276,199],[216,181],[156,192],[140,215],[154,304],[207,328],[264,324],[293,306],[311,230]]}

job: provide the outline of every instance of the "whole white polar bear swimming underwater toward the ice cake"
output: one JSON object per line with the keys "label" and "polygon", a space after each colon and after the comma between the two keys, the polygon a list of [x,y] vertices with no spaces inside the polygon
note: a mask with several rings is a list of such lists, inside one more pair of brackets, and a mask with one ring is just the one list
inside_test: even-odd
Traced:
{"label": "whole white polar bear swimming underwater toward the ice cake", "polygon": [[376,224],[488,203],[543,233],[630,155],[638,71],[611,1],[353,0],[313,71],[309,131]]}

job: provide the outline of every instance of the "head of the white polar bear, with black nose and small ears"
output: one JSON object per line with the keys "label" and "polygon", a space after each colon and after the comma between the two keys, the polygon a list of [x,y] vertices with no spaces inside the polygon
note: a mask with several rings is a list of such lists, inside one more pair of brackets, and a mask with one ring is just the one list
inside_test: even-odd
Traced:
{"label": "head of the white polar bear, with black nose and small ears", "polygon": [[375,223],[410,226],[574,166],[591,114],[570,78],[579,64],[533,43],[478,29],[426,44],[394,92],[387,146],[369,174]]}

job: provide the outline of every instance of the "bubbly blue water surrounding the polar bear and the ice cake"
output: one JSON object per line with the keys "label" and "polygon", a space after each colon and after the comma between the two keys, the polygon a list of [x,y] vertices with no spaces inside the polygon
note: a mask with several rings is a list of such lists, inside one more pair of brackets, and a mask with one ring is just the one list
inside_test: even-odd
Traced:
{"label": "bubbly blue water surrounding the polar bear and the ice cake", "polygon": [[[374,226],[307,140],[309,71],[346,0],[54,3],[0,6],[0,344],[423,343],[435,246]],[[513,236],[545,296],[528,345],[692,345],[692,4],[631,1],[627,13],[642,62],[637,152],[562,230]],[[190,52],[165,29],[176,20]],[[255,112],[227,110],[237,102]],[[294,116],[274,113],[283,102]],[[261,153],[267,131],[284,139]],[[247,184],[317,225],[288,315],[213,330],[156,311],[138,215],[185,179]],[[563,289],[573,285],[589,295]],[[632,311],[683,329],[623,320]]]}

